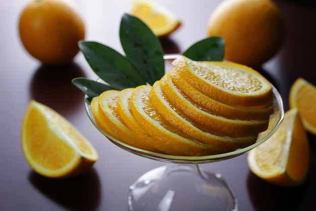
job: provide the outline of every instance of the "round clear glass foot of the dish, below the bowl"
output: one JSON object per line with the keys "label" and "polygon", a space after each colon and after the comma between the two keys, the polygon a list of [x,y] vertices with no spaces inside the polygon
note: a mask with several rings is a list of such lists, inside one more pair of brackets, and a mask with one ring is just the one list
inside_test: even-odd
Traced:
{"label": "round clear glass foot of the dish, below the bowl", "polygon": [[238,210],[232,188],[219,174],[197,165],[167,164],[142,175],[130,186],[129,210]]}

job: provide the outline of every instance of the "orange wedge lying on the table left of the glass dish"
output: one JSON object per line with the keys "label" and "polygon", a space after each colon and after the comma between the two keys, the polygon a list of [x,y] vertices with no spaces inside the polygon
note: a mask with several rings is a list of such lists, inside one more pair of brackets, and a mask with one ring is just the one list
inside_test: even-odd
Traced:
{"label": "orange wedge lying on the table left of the glass dish", "polygon": [[21,145],[29,165],[45,177],[76,176],[98,159],[92,144],[68,120],[35,100],[24,114]]}

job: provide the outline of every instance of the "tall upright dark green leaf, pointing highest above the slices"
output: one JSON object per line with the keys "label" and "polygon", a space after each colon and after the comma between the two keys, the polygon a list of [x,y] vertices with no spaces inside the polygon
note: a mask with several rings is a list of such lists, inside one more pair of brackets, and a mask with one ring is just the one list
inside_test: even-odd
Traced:
{"label": "tall upright dark green leaf, pointing highest above the slices", "polygon": [[124,14],[120,25],[120,39],[127,59],[147,83],[152,85],[163,77],[163,48],[145,23],[135,16]]}

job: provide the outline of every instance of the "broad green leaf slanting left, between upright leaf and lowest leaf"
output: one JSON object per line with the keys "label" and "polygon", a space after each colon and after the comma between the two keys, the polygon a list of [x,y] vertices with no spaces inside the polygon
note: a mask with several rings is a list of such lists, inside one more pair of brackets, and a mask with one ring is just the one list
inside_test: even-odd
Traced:
{"label": "broad green leaf slanting left, between upright leaf and lowest leaf", "polygon": [[113,89],[146,83],[133,65],[111,47],[93,41],[80,41],[79,47],[95,74]]}

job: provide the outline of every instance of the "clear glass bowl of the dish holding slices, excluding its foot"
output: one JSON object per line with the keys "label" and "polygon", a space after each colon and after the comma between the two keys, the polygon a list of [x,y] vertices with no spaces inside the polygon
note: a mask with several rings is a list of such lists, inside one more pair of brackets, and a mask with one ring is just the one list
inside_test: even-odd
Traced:
{"label": "clear glass bowl of the dish holding slices, excluding its foot", "polygon": [[283,103],[282,98],[277,91],[277,89],[272,85],[273,88],[273,106],[274,106],[274,113],[270,116],[269,120],[269,127],[266,131],[259,133],[257,140],[254,144],[247,146],[245,148],[240,148],[231,152],[221,153],[221,154],[214,154],[214,155],[206,155],[206,156],[176,156],[176,155],[168,155],[168,154],[162,154],[162,153],[156,153],[151,152],[147,150],[143,150],[131,145],[128,145],[112,136],[110,136],[108,133],[104,132],[95,122],[90,104],[85,100],[85,110],[86,113],[90,119],[90,121],[93,123],[95,128],[102,133],[104,136],[106,136],[111,142],[116,144],[117,146],[130,151],[134,154],[147,157],[149,159],[153,159],[156,161],[162,161],[166,163],[175,163],[175,164],[205,164],[205,163],[212,163],[222,160],[227,160],[232,157],[236,157],[238,155],[241,155],[243,153],[248,152],[252,148],[258,146],[262,142],[269,139],[275,131],[279,128],[283,117],[284,117],[284,110],[283,110]]}

